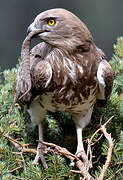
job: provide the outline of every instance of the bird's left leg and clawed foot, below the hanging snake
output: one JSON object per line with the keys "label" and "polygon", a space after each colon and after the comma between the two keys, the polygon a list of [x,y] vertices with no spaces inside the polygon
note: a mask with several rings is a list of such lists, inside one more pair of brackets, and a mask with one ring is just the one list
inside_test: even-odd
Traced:
{"label": "bird's left leg and clawed foot, below the hanging snake", "polygon": [[38,164],[39,159],[41,159],[43,167],[48,168],[47,163],[46,163],[45,158],[44,158],[43,145],[41,144],[41,142],[43,141],[43,126],[42,125],[43,125],[43,122],[40,122],[40,124],[38,125],[39,143],[37,146],[37,154],[35,156],[33,163]]}

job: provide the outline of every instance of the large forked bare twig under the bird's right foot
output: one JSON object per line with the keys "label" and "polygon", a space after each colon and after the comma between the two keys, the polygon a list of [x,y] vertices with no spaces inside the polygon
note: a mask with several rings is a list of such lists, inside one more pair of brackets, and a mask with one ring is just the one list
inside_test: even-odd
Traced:
{"label": "large forked bare twig under the bird's right foot", "polygon": [[[98,180],[103,180],[107,169],[109,167],[110,161],[111,161],[111,155],[112,155],[112,151],[113,151],[113,142],[112,142],[112,138],[111,138],[111,134],[108,134],[106,131],[106,125],[114,118],[114,116],[112,116],[104,125],[101,125],[101,127],[93,134],[93,136],[91,137],[91,139],[88,139],[88,149],[87,149],[87,157],[90,157],[88,163],[85,164],[75,155],[73,155],[72,153],[70,153],[67,149],[65,148],[61,148],[60,146],[57,146],[53,143],[47,143],[47,142],[42,142],[43,144],[47,145],[47,146],[51,146],[53,148],[55,148],[55,150],[66,156],[67,158],[69,158],[70,160],[76,160],[76,166],[78,167],[78,169],[80,171],[75,171],[75,170],[71,170],[71,172],[73,173],[79,173],[81,175],[84,176],[84,178],[86,180],[91,180],[93,179],[93,177],[89,174],[88,170],[90,167],[92,167],[92,150],[91,150],[91,146],[94,145],[94,143],[92,144],[92,141],[94,139],[94,137],[96,136],[96,134],[98,132],[102,132],[104,134],[104,136],[106,137],[106,139],[109,142],[109,149],[108,149],[108,155],[107,155],[107,159],[105,162],[105,165],[103,166],[103,168],[100,168],[100,176],[98,177]],[[101,139],[102,135],[98,138],[98,141]],[[97,142],[97,141],[96,141]]]}

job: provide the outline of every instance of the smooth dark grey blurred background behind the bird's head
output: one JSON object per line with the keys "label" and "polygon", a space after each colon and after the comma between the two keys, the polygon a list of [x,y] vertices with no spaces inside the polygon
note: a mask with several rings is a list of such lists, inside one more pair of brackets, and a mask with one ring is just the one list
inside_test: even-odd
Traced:
{"label": "smooth dark grey blurred background behind the bird's head", "polygon": [[75,13],[89,28],[98,47],[108,57],[113,44],[123,35],[123,0],[1,0],[0,66],[14,67],[28,25],[47,9],[62,7]]}

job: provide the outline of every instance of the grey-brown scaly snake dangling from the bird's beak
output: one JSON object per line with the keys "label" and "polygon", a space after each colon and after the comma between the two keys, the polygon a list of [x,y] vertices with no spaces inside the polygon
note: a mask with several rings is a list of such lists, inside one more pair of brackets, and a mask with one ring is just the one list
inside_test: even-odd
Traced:
{"label": "grey-brown scaly snake dangling from the bird's beak", "polygon": [[28,104],[31,101],[31,75],[30,75],[30,41],[35,33],[39,33],[40,30],[30,32],[30,34],[25,38],[22,49],[21,58],[22,62],[18,69],[17,79],[16,79],[16,102],[21,104]]}

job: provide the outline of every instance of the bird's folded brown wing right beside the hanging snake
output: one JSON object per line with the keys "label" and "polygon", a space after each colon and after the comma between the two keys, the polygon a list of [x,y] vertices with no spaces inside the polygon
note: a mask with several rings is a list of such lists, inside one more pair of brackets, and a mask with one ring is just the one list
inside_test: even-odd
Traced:
{"label": "bird's folded brown wing right beside the hanging snake", "polygon": [[[33,89],[36,93],[41,94],[49,85],[52,79],[52,68],[45,56],[49,53],[50,47],[45,43],[36,45],[30,54],[31,78]],[[33,91],[33,93],[35,94]],[[36,96],[35,94],[34,96]]]}

